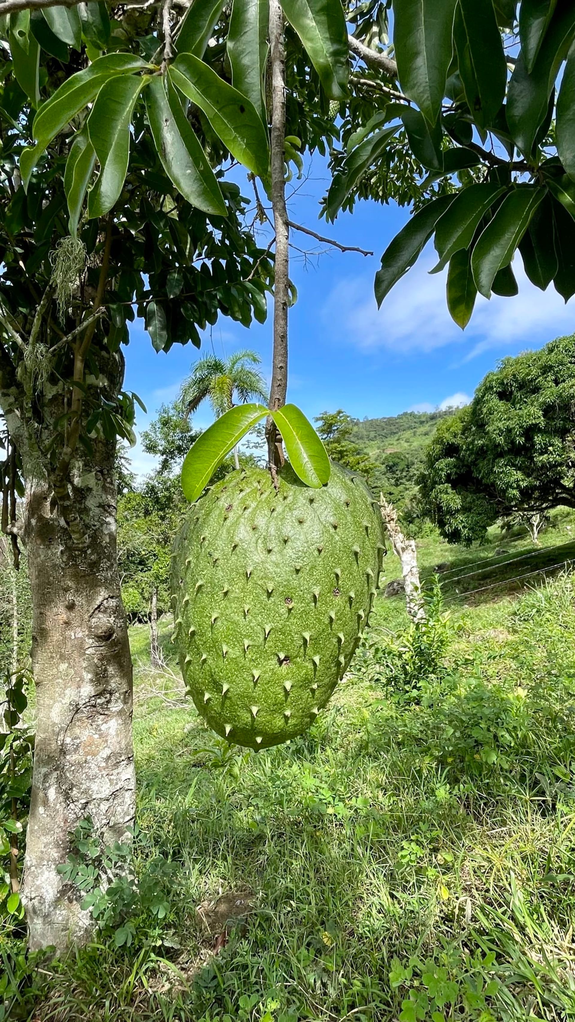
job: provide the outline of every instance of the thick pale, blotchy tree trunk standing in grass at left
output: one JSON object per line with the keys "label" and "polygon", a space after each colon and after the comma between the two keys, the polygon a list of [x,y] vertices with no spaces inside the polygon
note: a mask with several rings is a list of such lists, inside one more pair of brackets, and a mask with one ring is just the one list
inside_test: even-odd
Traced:
{"label": "thick pale, blotchy tree trunk standing in grass at left", "polygon": [[83,895],[56,872],[70,852],[69,833],[90,818],[107,844],[121,840],[134,819],[132,663],[116,557],[113,455],[107,445],[91,472],[84,464],[77,475],[83,544],[72,539],[47,487],[33,485],[27,499],[38,725],[23,900],[33,950],[63,950],[90,935]]}

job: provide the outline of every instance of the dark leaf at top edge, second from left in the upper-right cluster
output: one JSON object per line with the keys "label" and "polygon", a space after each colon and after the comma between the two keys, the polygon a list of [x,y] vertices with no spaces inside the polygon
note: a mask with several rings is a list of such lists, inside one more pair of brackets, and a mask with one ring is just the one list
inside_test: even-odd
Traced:
{"label": "dark leaf at top edge, second from left in the upper-right cluster", "polygon": [[489,128],[503,102],[507,66],[491,0],[459,0],[453,39],[468,106]]}

